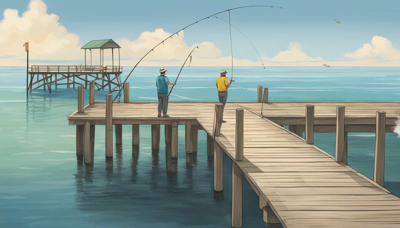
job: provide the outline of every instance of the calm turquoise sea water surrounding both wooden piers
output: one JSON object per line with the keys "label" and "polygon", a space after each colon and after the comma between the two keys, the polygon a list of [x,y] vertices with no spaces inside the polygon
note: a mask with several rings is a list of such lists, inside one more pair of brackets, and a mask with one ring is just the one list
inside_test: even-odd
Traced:
{"label": "calm turquoise sea water surrounding both wooden piers", "polygon": [[[125,67],[122,79],[131,69]],[[158,69],[135,69],[128,79],[131,101],[156,101]],[[174,81],[180,67],[167,69]],[[221,69],[183,69],[170,99],[217,100]],[[269,88],[271,101],[400,100],[399,68],[234,68],[233,79],[228,101],[255,101],[257,85]],[[105,131],[98,126],[94,166],[85,167],[75,156],[75,126],[67,121],[77,108],[77,89],[38,89],[26,99],[25,87],[26,68],[0,67],[0,227],[230,227],[231,161],[224,157],[224,193],[214,194],[204,132],[193,164],[186,163],[184,126],[178,128],[177,162],[166,161],[163,138],[159,151],[150,149],[149,125],[140,126],[139,148],[132,148],[131,129],[124,127],[122,147],[106,161]],[[96,91],[96,99],[106,93]],[[374,140],[374,133],[348,134],[348,164],[369,178]],[[314,142],[334,155],[334,133],[316,133]],[[386,133],[385,186],[397,195],[399,148],[397,134]],[[246,180],[243,227],[265,227]]]}

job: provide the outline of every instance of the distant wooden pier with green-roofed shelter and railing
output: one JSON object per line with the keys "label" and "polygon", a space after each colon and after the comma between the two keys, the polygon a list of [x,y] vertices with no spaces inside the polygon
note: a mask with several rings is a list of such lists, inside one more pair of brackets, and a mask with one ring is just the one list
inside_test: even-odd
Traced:
{"label": "distant wooden pier with green-roofed shelter and railing", "polygon": [[[118,49],[118,65],[114,65],[114,48]],[[95,82],[98,90],[108,88],[112,91],[120,89],[122,81],[120,75],[122,67],[120,66],[119,50],[120,46],[113,40],[92,40],[81,49],[85,51],[84,65],[31,65],[28,67],[29,84],[27,91],[42,88],[44,91],[52,92],[57,90],[57,86],[66,85],[67,88],[75,88],[75,85],[84,85],[87,88],[88,83]],[[93,64],[92,50],[99,49],[100,62]],[[112,50],[112,64],[104,65],[104,49]],[[90,51],[90,65],[86,61],[86,50]],[[35,77],[36,76],[36,77]],[[52,88],[54,85],[54,88]]]}

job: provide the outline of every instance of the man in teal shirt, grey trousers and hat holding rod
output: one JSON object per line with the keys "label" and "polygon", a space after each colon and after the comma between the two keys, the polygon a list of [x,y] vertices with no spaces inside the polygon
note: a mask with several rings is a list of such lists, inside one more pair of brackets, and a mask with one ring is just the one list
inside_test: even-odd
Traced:
{"label": "man in teal shirt, grey trousers and hat holding rod", "polygon": [[176,82],[171,83],[168,80],[168,77],[165,76],[165,72],[167,70],[162,67],[160,69],[160,75],[157,77],[156,86],[157,86],[157,95],[158,95],[158,115],[157,117],[170,117],[167,115],[168,109],[168,85],[175,85]]}

